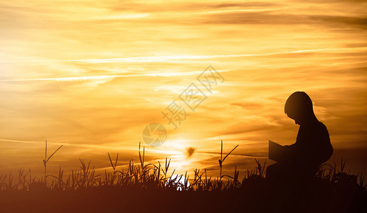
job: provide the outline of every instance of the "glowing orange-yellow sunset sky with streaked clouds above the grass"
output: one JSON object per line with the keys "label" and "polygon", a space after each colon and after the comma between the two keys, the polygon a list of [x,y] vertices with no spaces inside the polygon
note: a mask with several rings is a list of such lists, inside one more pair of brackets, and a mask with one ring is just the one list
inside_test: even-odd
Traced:
{"label": "glowing orange-yellow sunset sky with streaked clouds above the grass", "polygon": [[[367,3],[364,1],[1,1],[0,174],[50,174],[91,161],[97,172],[171,159],[240,176],[255,158],[270,165],[268,140],[295,142],[284,114],[304,91],[329,130],[334,155],[367,173]],[[206,71],[205,71],[206,70]],[[217,78],[209,89],[198,79]],[[214,80],[214,79],[213,79]],[[208,84],[207,84],[208,86]],[[209,87],[209,86],[208,86]],[[181,97],[196,89],[190,109]],[[200,99],[200,97],[199,97]],[[181,123],[163,116],[177,104]],[[176,106],[176,105],[175,105]],[[176,121],[178,122],[178,121]],[[161,146],[144,128],[162,124]]]}

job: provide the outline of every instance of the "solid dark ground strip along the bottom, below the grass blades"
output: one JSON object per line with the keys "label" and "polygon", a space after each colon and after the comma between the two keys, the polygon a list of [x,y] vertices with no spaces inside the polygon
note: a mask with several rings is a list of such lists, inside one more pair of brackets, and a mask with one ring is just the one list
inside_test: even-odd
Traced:
{"label": "solid dark ground strip along the bottom, below the grass blades", "polygon": [[314,184],[302,191],[248,182],[228,191],[90,187],[75,191],[0,191],[0,212],[367,212],[361,187]]}

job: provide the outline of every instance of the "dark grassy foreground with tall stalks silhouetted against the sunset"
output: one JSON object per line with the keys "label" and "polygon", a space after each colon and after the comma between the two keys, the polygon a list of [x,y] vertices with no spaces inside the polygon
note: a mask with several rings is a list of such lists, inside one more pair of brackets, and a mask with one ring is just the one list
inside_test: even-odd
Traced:
{"label": "dark grassy foreground with tall stalks silhouetted against the sunset", "polygon": [[[341,165],[321,165],[310,187],[295,192],[285,188],[272,197],[275,190],[268,187],[265,178],[265,162],[255,159],[256,168],[247,170],[239,180],[239,170],[233,175],[223,175],[223,141],[219,162],[220,176],[208,177],[207,170],[194,170],[188,185],[188,175],[169,173],[171,160],[163,165],[144,162],[145,148],[139,143],[139,163],[129,161],[127,170],[117,170],[115,159],[107,153],[112,172],[96,175],[90,161],[80,160],[80,168],[71,170],[68,177],[59,168],[57,175],[46,175],[46,163],[61,148],[43,160],[45,175],[36,178],[31,170],[18,170],[14,176],[0,175],[0,212],[365,212],[367,187],[363,175],[346,173],[346,160]],[[46,162],[46,163],[45,163]],[[50,177],[51,179],[46,179]],[[173,178],[174,177],[174,178]],[[180,181],[184,178],[184,181]],[[180,189],[178,191],[177,189]],[[288,189],[288,191],[287,191]],[[297,197],[298,196],[298,197]],[[300,196],[300,197],[299,197]],[[284,209],[289,203],[297,207]],[[284,206],[282,206],[284,204]],[[291,205],[292,206],[292,205]]]}

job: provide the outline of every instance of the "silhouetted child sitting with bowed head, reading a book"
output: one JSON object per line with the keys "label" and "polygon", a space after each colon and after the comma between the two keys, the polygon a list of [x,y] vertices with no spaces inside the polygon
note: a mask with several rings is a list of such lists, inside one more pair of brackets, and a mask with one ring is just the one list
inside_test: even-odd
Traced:
{"label": "silhouetted child sitting with bowed head, reading a book", "polygon": [[329,132],[317,120],[312,101],[305,92],[294,92],[285,103],[284,112],[299,124],[296,143],[284,146],[286,160],[267,167],[269,182],[297,182],[312,180],[321,163],[333,153]]}

